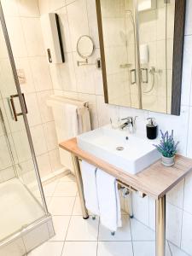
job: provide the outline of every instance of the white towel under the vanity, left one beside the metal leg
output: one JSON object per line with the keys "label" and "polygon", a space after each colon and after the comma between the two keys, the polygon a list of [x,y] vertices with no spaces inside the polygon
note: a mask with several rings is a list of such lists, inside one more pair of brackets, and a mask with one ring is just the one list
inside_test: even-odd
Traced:
{"label": "white towel under the vanity, left one beside the metal leg", "polygon": [[84,184],[85,206],[91,213],[99,215],[96,191],[96,166],[92,166],[82,160],[81,173]]}

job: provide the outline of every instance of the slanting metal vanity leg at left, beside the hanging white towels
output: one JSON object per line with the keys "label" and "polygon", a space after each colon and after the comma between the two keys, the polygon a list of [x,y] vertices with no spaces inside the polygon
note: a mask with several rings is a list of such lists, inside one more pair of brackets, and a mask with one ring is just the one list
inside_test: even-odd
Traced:
{"label": "slanting metal vanity leg at left, beside the hanging white towels", "polygon": [[80,166],[79,166],[79,158],[72,154],[72,160],[73,160],[74,172],[75,172],[75,176],[76,176],[76,180],[77,180],[77,184],[78,184],[81,211],[83,214],[83,218],[87,219],[87,218],[89,218],[89,215],[88,215],[87,209],[85,207],[84,189],[83,189],[83,182],[82,182],[81,171],[80,171]]}

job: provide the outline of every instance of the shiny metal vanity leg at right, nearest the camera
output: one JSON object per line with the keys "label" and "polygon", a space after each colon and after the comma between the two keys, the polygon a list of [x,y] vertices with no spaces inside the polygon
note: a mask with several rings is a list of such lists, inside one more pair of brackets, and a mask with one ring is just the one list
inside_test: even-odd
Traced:
{"label": "shiny metal vanity leg at right, nearest the camera", "polygon": [[156,256],[166,255],[166,195],[156,200]]}

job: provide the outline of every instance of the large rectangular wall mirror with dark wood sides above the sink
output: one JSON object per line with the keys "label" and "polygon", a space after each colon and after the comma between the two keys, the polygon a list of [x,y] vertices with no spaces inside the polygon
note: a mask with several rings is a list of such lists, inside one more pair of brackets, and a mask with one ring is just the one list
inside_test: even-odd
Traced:
{"label": "large rectangular wall mirror with dark wood sides above the sink", "polygon": [[180,114],[185,0],[96,0],[105,102]]}

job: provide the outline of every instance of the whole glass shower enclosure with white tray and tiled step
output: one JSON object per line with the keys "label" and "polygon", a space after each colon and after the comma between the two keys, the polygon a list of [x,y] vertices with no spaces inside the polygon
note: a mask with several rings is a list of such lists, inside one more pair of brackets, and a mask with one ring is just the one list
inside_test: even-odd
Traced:
{"label": "whole glass shower enclosure with white tray and tiled step", "polygon": [[[53,236],[54,230],[1,2],[0,20],[0,255],[12,255],[11,250],[23,255]],[[34,240],[30,232],[41,237]]]}

